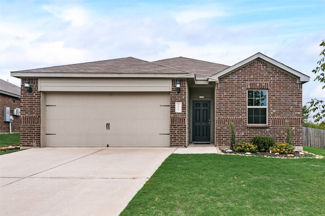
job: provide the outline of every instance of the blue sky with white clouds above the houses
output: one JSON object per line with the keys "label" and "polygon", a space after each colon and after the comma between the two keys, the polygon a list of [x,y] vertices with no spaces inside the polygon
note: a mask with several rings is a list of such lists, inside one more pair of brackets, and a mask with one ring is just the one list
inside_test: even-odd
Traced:
{"label": "blue sky with white clouds above the houses", "polygon": [[303,104],[325,100],[311,71],[325,0],[0,0],[0,78],[11,71],[124,57],[232,66],[257,52],[310,76]]}

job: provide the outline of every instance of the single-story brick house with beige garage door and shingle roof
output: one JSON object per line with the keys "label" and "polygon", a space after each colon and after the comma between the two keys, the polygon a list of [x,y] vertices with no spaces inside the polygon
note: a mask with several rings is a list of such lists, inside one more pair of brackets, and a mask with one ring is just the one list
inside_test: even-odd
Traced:
{"label": "single-story brick house with beige garage door and shingle roof", "polygon": [[[23,147],[229,146],[291,139],[302,149],[309,76],[257,53],[231,67],[188,58],[121,58],[11,72],[21,89]],[[179,88],[177,85],[179,84]]]}

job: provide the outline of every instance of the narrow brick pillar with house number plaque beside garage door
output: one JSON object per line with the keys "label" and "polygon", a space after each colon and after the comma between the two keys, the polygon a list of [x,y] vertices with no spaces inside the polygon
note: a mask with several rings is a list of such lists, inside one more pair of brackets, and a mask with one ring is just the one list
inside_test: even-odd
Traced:
{"label": "narrow brick pillar with house number plaque beside garage door", "polygon": [[[185,79],[179,80],[181,83],[181,92],[176,92],[176,79],[172,80],[171,92],[171,120],[170,120],[170,146],[186,146],[186,90],[187,82]],[[175,102],[182,102],[182,112],[175,112]]]}

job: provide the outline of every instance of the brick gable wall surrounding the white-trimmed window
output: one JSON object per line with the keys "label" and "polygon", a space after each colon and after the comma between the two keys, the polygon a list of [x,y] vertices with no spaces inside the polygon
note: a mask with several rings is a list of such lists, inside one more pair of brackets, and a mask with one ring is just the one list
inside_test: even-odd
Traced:
{"label": "brick gable wall surrounding the white-trimmed window", "polygon": [[[247,90],[268,90],[268,126],[247,125]],[[274,137],[286,141],[288,121],[291,140],[303,145],[302,83],[281,70],[255,60],[246,66],[219,78],[216,84],[215,142],[229,146],[234,123],[236,139],[250,140],[254,136]]]}

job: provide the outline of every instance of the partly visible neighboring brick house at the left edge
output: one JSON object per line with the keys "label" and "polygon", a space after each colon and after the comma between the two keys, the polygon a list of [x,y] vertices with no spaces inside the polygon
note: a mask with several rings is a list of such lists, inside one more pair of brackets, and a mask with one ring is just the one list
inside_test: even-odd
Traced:
{"label": "partly visible neighboring brick house at the left edge", "polygon": [[11,122],[11,132],[19,133],[20,116],[19,113],[13,115],[13,110],[20,108],[20,87],[0,79],[0,133],[10,133],[10,121],[5,121],[4,107],[9,107],[9,115],[13,116]]}

